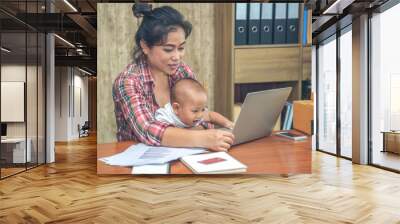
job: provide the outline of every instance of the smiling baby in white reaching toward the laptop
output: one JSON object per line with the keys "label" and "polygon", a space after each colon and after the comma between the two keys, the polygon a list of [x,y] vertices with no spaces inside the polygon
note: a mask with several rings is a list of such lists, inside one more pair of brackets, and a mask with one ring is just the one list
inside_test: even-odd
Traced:
{"label": "smiling baby in white reaching toward the laptop", "polygon": [[170,94],[171,102],[156,111],[156,120],[180,128],[196,128],[202,121],[233,128],[233,123],[224,116],[208,112],[207,93],[198,81],[181,79],[172,87]]}

